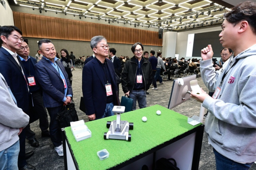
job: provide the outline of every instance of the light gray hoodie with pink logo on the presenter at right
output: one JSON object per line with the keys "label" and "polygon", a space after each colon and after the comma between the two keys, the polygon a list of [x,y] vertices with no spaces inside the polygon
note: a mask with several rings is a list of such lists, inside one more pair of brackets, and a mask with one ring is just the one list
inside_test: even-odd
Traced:
{"label": "light gray hoodie with pink logo on the presenter at right", "polygon": [[221,74],[215,72],[211,59],[200,61],[204,84],[210,91],[221,89],[217,99],[207,97],[203,101],[203,107],[209,111],[205,128],[208,140],[220,154],[241,163],[256,161],[255,58],[253,45],[231,56]]}

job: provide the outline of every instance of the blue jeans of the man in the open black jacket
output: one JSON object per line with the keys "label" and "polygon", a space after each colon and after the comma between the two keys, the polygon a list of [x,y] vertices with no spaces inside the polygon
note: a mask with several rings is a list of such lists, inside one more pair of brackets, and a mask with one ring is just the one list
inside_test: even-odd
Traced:
{"label": "blue jeans of the man in the open black jacket", "polygon": [[138,100],[139,108],[145,108],[147,107],[147,101],[146,101],[146,91],[144,90],[132,90],[129,93],[129,98],[133,99],[133,104],[132,104],[132,110],[136,110],[136,101]]}

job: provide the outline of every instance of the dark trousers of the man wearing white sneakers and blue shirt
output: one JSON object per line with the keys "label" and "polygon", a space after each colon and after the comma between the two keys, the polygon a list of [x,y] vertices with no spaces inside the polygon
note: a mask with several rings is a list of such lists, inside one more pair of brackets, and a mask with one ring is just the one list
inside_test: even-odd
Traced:
{"label": "dark trousers of the man wearing white sneakers and blue shirt", "polygon": [[58,121],[56,120],[57,113],[61,110],[62,105],[58,107],[50,107],[47,108],[48,113],[50,115],[50,136],[54,147],[60,146],[62,143],[62,135],[61,130],[58,125]]}

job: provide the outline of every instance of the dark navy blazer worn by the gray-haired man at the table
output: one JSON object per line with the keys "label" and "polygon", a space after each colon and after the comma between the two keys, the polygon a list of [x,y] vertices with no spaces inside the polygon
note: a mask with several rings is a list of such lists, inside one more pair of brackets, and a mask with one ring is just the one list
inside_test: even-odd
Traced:
{"label": "dark navy blazer worn by the gray-haired man at the table", "polygon": [[[117,85],[115,71],[112,61],[106,59],[106,62],[112,82],[113,103],[116,105]],[[98,72],[100,69],[99,66],[97,59],[94,58],[83,67],[82,74],[82,90],[86,115],[93,115],[95,113],[96,117],[101,117],[103,115],[107,104],[107,94],[103,77],[105,75]]]}

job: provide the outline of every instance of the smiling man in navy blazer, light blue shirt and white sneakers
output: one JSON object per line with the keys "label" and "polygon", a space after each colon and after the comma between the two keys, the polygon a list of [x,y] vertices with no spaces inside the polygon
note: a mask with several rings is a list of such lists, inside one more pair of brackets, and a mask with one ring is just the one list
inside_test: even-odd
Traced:
{"label": "smiling man in navy blazer, light blue shirt and white sneakers", "polygon": [[56,120],[57,113],[64,105],[71,102],[73,95],[68,74],[58,58],[51,40],[42,39],[38,42],[41,61],[35,64],[35,76],[43,89],[44,106],[50,115],[50,137],[54,150],[63,156],[61,131]]}

